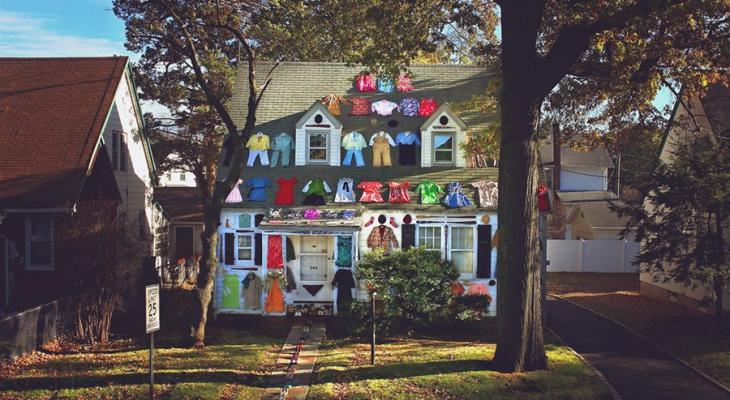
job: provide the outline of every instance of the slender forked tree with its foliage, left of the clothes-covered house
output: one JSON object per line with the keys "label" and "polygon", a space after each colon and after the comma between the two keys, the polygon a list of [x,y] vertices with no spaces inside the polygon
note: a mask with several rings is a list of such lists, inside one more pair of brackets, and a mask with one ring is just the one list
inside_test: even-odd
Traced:
{"label": "slender forked tree with its foliage, left of the clothes-covered house", "polygon": [[[141,53],[137,65],[143,97],[173,112],[183,160],[192,164],[203,203],[203,254],[195,290],[198,318],[194,346],[202,347],[218,267],[216,249],[223,201],[243,174],[243,144],[256,125],[256,107],[271,81],[256,81],[256,51],[248,36],[266,7],[255,1],[115,0],[114,13],[125,21],[127,49]],[[226,103],[239,64],[248,65],[248,113],[239,127]],[[223,137],[232,141],[232,167],[218,176]]]}

